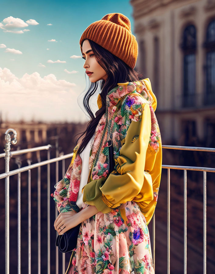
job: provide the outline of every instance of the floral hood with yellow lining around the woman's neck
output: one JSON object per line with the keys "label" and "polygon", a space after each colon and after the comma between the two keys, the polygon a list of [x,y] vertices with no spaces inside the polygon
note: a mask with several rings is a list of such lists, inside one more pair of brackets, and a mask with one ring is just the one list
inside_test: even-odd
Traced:
{"label": "floral hood with yellow lining around the woman's neck", "polygon": [[[151,88],[151,82],[149,78],[126,82],[126,83],[117,83],[117,86],[114,87],[111,91],[108,92],[107,98],[110,100],[110,104],[115,106],[120,98],[127,94],[138,92],[141,94],[153,107],[154,111],[157,107],[157,99]],[[100,109],[102,106],[100,94],[97,98],[97,105]]]}

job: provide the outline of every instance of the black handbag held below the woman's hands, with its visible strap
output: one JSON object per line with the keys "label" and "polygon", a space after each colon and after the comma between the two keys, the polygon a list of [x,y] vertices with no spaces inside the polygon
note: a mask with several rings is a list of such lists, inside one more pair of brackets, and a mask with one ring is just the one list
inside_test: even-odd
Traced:
{"label": "black handbag held below the woman's hands, with its visible strap", "polygon": [[[108,146],[109,150],[109,174],[114,170],[114,150],[113,143],[111,140],[111,145]],[[74,228],[67,230],[63,235],[58,235],[56,239],[56,246],[62,253],[70,252],[75,249],[77,245],[78,233],[81,223],[76,225]]]}

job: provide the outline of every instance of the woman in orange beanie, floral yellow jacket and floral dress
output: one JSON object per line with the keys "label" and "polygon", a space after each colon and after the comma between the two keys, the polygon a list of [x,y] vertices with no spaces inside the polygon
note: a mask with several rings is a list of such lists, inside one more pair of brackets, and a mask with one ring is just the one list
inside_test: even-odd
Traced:
{"label": "woman in orange beanie, floral yellow jacket and floral dress", "polygon": [[[133,69],[138,45],[126,16],[110,13],[92,23],[80,46],[92,72],[84,97],[91,120],[52,195],[56,231],[81,224],[66,273],[154,273],[148,223],[162,166],[157,100],[150,80]],[[94,117],[89,98],[99,81]]]}

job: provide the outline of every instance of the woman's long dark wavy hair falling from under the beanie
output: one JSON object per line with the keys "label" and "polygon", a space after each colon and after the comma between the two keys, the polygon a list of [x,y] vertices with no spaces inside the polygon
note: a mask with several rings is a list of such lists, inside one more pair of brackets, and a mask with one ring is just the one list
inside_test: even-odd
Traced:
{"label": "woman's long dark wavy hair falling from under the beanie", "polygon": [[[89,39],[88,39],[89,40]],[[78,146],[77,154],[80,154],[84,148],[86,147],[87,143],[93,136],[96,127],[101,119],[102,115],[106,111],[106,96],[111,89],[117,86],[117,83],[126,83],[126,82],[133,82],[144,79],[145,76],[142,72],[136,72],[133,68],[130,68],[124,61],[119,59],[117,56],[112,54],[110,51],[104,49],[102,46],[98,45],[97,43],[89,40],[89,44],[95,54],[95,58],[99,65],[104,68],[107,72],[108,78],[107,80],[101,80],[101,101],[102,107],[97,110],[95,116],[92,110],[89,107],[89,99],[90,97],[96,92],[98,87],[98,82],[90,84],[90,87],[83,98],[83,105],[86,109],[87,113],[91,117],[87,128],[84,132],[81,132],[80,135],[75,142],[75,146],[78,144],[78,140],[82,138],[81,144]],[[81,134],[78,133],[78,134]],[[75,135],[76,136],[76,135]]]}

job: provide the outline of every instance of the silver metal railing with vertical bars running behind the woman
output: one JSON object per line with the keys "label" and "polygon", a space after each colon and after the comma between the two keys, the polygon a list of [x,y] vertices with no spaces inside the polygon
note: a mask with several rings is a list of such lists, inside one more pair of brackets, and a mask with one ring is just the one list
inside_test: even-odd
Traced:
{"label": "silver metal railing with vertical bars running behind the woman", "polygon": [[[13,133],[13,138],[9,133]],[[21,273],[21,180],[20,174],[28,171],[28,274],[31,273],[31,169],[38,168],[38,274],[41,273],[41,166],[47,165],[47,274],[50,274],[50,164],[56,163],[56,183],[58,182],[59,161],[62,161],[62,176],[65,173],[65,159],[72,157],[73,153],[59,156],[59,150],[56,149],[56,157],[50,159],[51,145],[40,146],[30,149],[10,151],[10,145],[16,144],[16,131],[9,128],[5,132],[5,153],[0,154],[0,158],[5,158],[5,173],[0,174],[0,179],[5,178],[5,273],[9,274],[9,177],[18,174],[18,273]],[[58,146],[56,146],[58,148]],[[162,145],[162,149],[176,149],[176,150],[197,150],[215,152],[214,148],[205,147],[188,147],[188,146],[168,146]],[[28,152],[47,150],[46,161],[40,161],[38,156],[38,163],[31,165],[31,160],[27,159],[28,166],[21,168],[20,162],[17,161],[18,169],[9,171],[9,160],[14,155],[21,155]],[[167,274],[170,273],[170,169],[184,170],[184,274],[187,273],[187,170],[195,170],[203,172],[203,273],[206,274],[206,172],[215,172],[215,168],[193,167],[193,166],[175,166],[175,165],[162,165],[162,168],[167,169]],[[55,218],[58,211],[55,208]],[[57,233],[56,233],[57,235]],[[155,213],[152,218],[152,246],[153,246],[153,263],[155,268]],[[59,253],[56,247],[56,260],[55,270],[56,274],[59,273],[58,265]],[[62,273],[65,273],[65,254],[62,254]]]}

